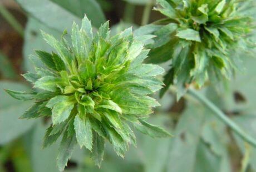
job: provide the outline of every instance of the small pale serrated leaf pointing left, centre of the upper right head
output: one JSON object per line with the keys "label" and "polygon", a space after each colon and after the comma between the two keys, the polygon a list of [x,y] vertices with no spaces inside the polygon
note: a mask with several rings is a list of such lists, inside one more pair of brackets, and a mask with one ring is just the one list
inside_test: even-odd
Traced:
{"label": "small pale serrated leaf pointing left, centre of the upper right head", "polygon": [[176,36],[186,40],[201,42],[199,32],[193,29],[185,29],[185,30],[178,31]]}

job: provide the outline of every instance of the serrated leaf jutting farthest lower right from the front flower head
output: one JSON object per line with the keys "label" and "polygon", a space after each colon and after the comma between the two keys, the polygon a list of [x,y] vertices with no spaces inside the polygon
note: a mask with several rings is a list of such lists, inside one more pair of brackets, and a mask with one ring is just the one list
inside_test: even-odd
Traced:
{"label": "serrated leaf jutting farthest lower right from the front flower head", "polygon": [[171,136],[171,134],[169,134],[163,128],[149,124],[142,119],[140,119],[140,124],[135,123],[134,127],[141,133],[150,135],[152,138],[166,138]]}

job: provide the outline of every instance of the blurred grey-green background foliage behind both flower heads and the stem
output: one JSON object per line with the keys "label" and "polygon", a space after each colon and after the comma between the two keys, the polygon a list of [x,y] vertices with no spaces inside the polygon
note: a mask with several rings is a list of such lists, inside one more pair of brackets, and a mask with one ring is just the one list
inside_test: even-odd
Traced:
{"label": "blurred grey-green background foliage behind both flower heads and the stem", "polygon": [[[50,51],[40,30],[61,37],[81,22],[84,13],[95,30],[110,20],[112,33],[161,19],[150,11],[152,0],[1,0],[0,1],[0,171],[57,171],[57,144],[42,149],[49,119],[18,117],[31,102],[9,97],[3,88],[26,90],[31,85],[21,74],[33,70],[29,54]],[[240,54],[244,73],[224,85],[208,85],[201,94],[211,99],[228,117],[256,138],[256,61]],[[32,59],[37,63],[36,59]],[[165,64],[163,67],[168,68]],[[155,95],[157,99],[158,95]],[[76,148],[65,171],[256,171],[256,149],[244,143],[226,125],[195,99],[176,102],[170,90],[155,109],[151,123],[164,126],[173,138],[152,139],[136,133],[137,148],[130,147],[125,159],[107,146],[101,169],[85,149]]]}

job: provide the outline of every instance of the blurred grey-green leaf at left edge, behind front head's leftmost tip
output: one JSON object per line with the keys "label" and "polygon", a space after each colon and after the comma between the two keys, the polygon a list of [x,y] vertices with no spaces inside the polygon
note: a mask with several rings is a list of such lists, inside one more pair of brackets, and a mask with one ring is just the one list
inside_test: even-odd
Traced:
{"label": "blurred grey-green leaf at left edge, behind front head's leftmost tip", "polygon": [[28,90],[28,87],[16,82],[0,82],[0,145],[26,133],[36,120],[21,120],[19,117],[31,106],[32,102],[21,102],[10,97],[4,88]]}

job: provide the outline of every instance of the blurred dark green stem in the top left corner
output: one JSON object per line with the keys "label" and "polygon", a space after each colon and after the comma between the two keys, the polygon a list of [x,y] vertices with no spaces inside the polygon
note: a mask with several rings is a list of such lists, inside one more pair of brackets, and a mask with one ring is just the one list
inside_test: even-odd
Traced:
{"label": "blurred dark green stem in the top left corner", "polygon": [[6,21],[23,37],[24,31],[23,27],[19,22],[16,20],[16,18],[13,17],[13,15],[8,12],[8,10],[3,6],[0,5],[0,14],[2,14],[3,18],[6,19]]}

